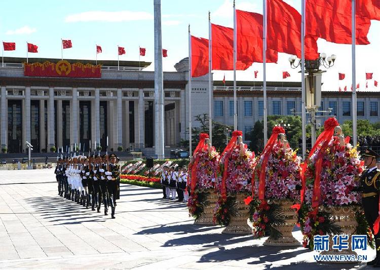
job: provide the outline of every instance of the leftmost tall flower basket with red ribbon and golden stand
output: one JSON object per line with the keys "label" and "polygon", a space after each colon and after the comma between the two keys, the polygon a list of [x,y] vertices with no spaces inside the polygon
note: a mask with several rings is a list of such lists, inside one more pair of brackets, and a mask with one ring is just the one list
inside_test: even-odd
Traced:
{"label": "leftmost tall flower basket with red ribbon and golden stand", "polygon": [[210,145],[208,134],[200,134],[200,141],[193,157],[187,186],[190,193],[187,201],[189,215],[195,218],[195,225],[214,225],[213,210],[218,200],[214,190],[215,170],[219,153]]}

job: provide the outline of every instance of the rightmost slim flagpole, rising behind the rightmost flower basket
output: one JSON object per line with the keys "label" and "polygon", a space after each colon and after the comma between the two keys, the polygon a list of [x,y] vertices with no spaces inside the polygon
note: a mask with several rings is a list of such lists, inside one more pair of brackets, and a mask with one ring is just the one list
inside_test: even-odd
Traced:
{"label": "rightmost slim flagpole, rising behind the rightmost flower basket", "polygon": [[356,115],[356,6],[355,0],[352,0],[352,10],[351,10],[351,33],[352,33],[352,141],[353,145],[356,146],[358,142],[357,134],[357,115]]}

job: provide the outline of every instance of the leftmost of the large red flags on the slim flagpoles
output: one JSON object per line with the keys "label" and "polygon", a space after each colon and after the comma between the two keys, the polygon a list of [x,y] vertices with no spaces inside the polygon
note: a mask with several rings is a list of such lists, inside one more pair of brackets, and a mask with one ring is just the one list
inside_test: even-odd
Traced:
{"label": "leftmost of the large red flags on the slim flagpoles", "polygon": [[192,77],[208,73],[208,40],[192,36]]}

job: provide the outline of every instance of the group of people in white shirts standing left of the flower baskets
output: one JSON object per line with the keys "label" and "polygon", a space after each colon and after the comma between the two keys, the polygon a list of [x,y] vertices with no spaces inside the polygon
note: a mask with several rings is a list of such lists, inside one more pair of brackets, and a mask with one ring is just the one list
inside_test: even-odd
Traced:
{"label": "group of people in white shirts standing left of the flower baskets", "polygon": [[164,166],[164,170],[161,174],[161,184],[163,199],[175,201],[176,195],[178,196],[178,202],[187,202],[187,168],[186,166],[178,167]]}

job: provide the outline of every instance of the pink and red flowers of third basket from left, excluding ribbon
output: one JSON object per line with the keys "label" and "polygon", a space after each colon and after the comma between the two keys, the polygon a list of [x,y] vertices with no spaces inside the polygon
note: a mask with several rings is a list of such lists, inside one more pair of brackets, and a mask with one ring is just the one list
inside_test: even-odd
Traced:
{"label": "pink and red flowers of third basket from left, excluding ribbon", "polygon": [[[256,171],[260,172],[263,155],[260,156]],[[259,179],[255,174],[254,192],[258,194]],[[265,198],[299,200],[301,186],[300,157],[296,151],[277,140],[269,153],[268,165],[265,168]]]}

